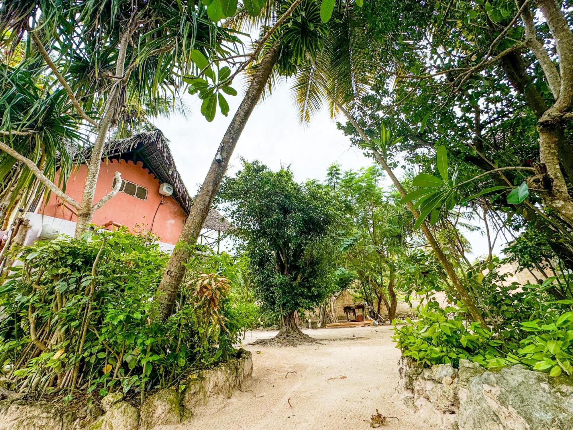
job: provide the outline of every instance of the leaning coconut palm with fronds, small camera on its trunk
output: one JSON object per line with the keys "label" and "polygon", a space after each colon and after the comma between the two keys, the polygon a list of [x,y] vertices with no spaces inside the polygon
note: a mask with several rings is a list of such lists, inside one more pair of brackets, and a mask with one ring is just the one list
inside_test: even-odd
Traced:
{"label": "leaning coconut palm with fronds, small camera on its trunk", "polygon": [[[340,5],[346,3],[341,2]],[[249,15],[247,8],[242,6],[229,20],[227,24],[236,28],[262,25],[261,39],[250,57],[256,59],[256,62],[247,71],[250,77],[249,87],[195,197],[179,236],[181,243],[193,245],[197,242],[241,132],[265,91],[272,91],[273,86],[284,80],[284,77],[293,77],[293,90],[301,108],[301,119],[309,120],[319,109],[317,97],[321,97],[313,73],[320,74],[324,79],[329,70],[336,70],[341,73],[341,79],[332,79],[329,88],[337,94],[337,103],[352,107],[359,91],[365,88],[362,80],[367,76],[367,72],[363,69],[366,62],[363,57],[364,49],[359,42],[360,34],[354,34],[360,27],[360,24],[356,24],[360,22],[359,14],[349,12],[347,7],[354,9],[354,3],[339,7],[335,11],[335,17],[328,19],[329,17],[325,18],[324,13],[321,13],[324,8],[317,0],[273,0],[266,3],[264,11],[256,18],[253,18],[252,14]],[[269,30],[270,21],[273,21],[274,17],[278,18]],[[353,24],[349,23],[351,20]],[[346,37],[346,42],[339,41],[341,37]],[[259,52],[260,59],[256,57]],[[241,71],[241,68],[238,71]],[[332,113],[336,110],[336,104],[332,103]],[[185,273],[183,264],[189,259],[190,252],[189,246],[176,247],[167,263],[158,287],[159,316],[162,319],[168,318],[173,311]]]}

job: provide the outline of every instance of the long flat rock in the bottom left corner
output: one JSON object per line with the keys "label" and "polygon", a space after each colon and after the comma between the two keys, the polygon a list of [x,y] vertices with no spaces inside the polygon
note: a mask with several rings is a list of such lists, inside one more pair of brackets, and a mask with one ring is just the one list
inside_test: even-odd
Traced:
{"label": "long flat rock in the bottom left corner", "polygon": [[71,428],[73,419],[48,403],[15,401],[0,419],[0,430],[60,430]]}

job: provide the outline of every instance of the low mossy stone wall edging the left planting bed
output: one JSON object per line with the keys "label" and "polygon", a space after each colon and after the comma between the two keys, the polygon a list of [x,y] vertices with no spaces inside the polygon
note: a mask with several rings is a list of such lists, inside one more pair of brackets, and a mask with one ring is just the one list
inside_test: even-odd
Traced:
{"label": "low mossy stone wall edging the left planting bed", "polygon": [[[162,425],[193,420],[201,405],[229,398],[253,374],[253,358],[240,349],[237,357],[194,375],[183,382],[182,392],[159,390],[137,409],[123,401],[121,393],[111,393],[101,405],[91,405],[81,413],[45,402],[0,402],[0,430],[151,430]],[[101,406],[101,407],[100,407]]]}

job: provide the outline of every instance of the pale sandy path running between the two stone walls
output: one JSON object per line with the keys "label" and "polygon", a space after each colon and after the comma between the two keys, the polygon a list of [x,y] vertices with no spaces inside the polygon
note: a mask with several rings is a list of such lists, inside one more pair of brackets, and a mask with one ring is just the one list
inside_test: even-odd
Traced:
{"label": "pale sandy path running between the two stone walls", "polygon": [[261,347],[248,343],[276,332],[248,333],[243,346],[253,353],[253,378],[243,392],[236,391],[229,400],[211,401],[192,420],[170,428],[366,430],[376,409],[399,418],[388,419],[383,429],[431,428],[413,416],[398,396],[400,354],[389,326],[305,333],[321,344]]}

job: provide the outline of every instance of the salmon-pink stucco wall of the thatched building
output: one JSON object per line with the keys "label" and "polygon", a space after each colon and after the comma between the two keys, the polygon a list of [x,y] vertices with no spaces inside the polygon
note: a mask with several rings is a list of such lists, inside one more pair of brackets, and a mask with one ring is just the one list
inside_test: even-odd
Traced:
{"label": "salmon-pink stucco wall of the thatched building", "polygon": [[[121,178],[126,181],[146,187],[147,198],[140,200],[119,191],[105,205],[96,210],[93,224],[104,225],[113,221],[127,226],[134,232],[151,230],[152,233],[160,237],[162,242],[170,244],[177,242],[187,216],[172,197],[166,197],[164,204],[160,205],[163,196],[159,194],[159,179],[155,178],[148,169],[144,169],[141,162],[134,164],[132,161],[125,162],[123,160],[102,161],[100,169],[96,186],[96,202],[111,191],[113,175],[116,171],[119,171]],[[83,193],[86,173],[87,166],[79,166],[70,175],[66,186],[66,194],[78,202]],[[157,214],[155,221],[153,221],[156,210]],[[75,209],[73,211],[75,212]],[[61,200],[53,194],[38,212],[64,220],[76,221],[77,219],[68,205],[62,206]],[[152,222],[153,228],[151,229]]]}

